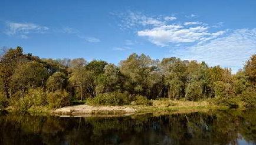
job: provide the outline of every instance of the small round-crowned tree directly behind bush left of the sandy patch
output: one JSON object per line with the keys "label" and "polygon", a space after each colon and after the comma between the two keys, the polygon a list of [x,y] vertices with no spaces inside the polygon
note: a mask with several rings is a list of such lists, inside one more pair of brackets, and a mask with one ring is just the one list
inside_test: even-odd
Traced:
{"label": "small round-crowned tree directly behind bush left of the sandy patch", "polygon": [[55,72],[47,79],[46,86],[51,92],[63,90],[67,86],[67,76],[63,72]]}

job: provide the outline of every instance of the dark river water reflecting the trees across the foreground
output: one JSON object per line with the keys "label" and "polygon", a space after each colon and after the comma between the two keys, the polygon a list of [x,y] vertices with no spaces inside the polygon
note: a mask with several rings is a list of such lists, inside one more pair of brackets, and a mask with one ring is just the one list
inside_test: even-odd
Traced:
{"label": "dark river water reflecting the trees across the foreground", "polygon": [[0,114],[0,144],[256,144],[255,110],[53,117]]}

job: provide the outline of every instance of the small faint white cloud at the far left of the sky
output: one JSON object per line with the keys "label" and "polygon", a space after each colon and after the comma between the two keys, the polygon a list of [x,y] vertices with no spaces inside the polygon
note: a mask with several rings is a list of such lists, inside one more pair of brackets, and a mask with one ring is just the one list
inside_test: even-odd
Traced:
{"label": "small faint white cloud at the far left of the sky", "polygon": [[21,38],[28,38],[29,33],[45,33],[49,28],[40,26],[35,23],[15,23],[6,22],[7,29],[5,33],[10,36],[20,36]]}

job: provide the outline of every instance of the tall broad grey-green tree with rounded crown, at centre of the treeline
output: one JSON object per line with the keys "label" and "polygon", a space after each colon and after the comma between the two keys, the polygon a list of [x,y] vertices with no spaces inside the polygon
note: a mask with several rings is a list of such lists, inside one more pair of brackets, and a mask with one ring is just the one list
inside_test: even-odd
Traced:
{"label": "tall broad grey-green tree with rounded crown, at centre of the treeline", "polygon": [[126,77],[124,88],[133,95],[151,97],[152,87],[159,81],[156,61],[144,54],[133,53],[120,62],[120,72]]}

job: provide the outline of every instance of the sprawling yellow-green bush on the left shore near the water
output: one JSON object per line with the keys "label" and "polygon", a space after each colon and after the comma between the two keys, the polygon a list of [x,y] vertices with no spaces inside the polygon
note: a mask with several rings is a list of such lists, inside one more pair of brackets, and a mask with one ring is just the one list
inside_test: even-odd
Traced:
{"label": "sprawling yellow-green bush on the left shore near the water", "polygon": [[22,95],[15,95],[11,99],[12,106],[20,111],[28,110],[31,107],[44,106],[46,102],[46,93],[42,88],[29,89],[24,97]]}

